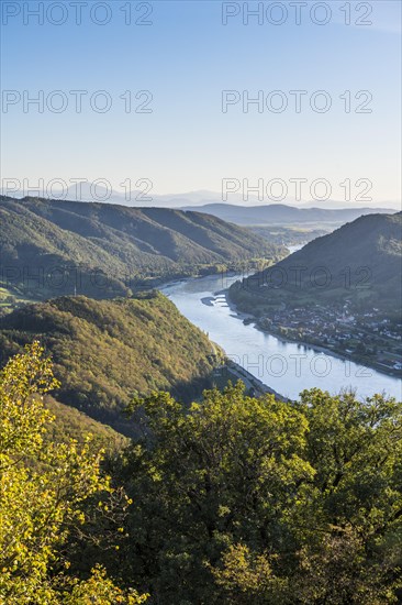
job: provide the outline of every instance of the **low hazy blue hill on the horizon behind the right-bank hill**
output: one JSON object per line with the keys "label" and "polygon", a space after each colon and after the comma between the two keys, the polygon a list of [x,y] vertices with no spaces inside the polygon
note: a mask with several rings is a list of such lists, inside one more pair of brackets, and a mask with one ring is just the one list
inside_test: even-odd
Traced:
{"label": "low hazy blue hill on the horizon behind the right-bank hill", "polygon": [[[189,210],[190,207],[182,208]],[[192,207],[192,210],[196,210]],[[300,224],[300,223],[342,223],[353,221],[362,215],[388,213],[392,210],[382,208],[295,208],[284,204],[260,206],[234,206],[231,204],[206,204],[197,208],[222,220],[241,226],[261,224]]]}

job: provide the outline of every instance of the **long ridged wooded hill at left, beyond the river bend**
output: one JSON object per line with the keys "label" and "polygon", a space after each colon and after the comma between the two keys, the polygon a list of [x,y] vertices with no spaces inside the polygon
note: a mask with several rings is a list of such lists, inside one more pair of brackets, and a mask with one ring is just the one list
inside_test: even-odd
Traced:
{"label": "long ridged wooded hill at left, beyond the river bend", "polygon": [[284,256],[221,219],[163,208],[0,197],[0,286],[26,298],[130,293],[146,278]]}

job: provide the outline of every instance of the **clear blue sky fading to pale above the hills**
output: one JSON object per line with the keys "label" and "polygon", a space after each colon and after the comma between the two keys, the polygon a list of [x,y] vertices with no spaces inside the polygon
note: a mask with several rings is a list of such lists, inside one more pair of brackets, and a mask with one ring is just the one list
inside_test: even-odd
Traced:
{"label": "clear blue sky fading to pale above the hills", "polygon": [[399,1],[1,9],[3,191],[401,199]]}

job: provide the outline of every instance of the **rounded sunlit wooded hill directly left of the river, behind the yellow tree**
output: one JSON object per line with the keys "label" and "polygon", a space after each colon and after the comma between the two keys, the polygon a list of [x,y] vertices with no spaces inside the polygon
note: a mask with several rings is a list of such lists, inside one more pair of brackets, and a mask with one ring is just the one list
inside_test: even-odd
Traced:
{"label": "rounded sunlit wooded hill directly left of the river, behind the yellow tree", "polygon": [[33,340],[55,363],[54,397],[131,435],[122,415],[133,393],[153,389],[197,398],[211,385],[212,344],[159,293],[93,300],[62,297],[0,320],[0,365]]}

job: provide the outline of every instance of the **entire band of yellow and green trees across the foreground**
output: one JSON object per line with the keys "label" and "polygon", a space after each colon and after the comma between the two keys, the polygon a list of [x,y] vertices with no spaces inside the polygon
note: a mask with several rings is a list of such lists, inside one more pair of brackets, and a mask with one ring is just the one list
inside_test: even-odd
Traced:
{"label": "entire band of yellow and green trees across the foreground", "polygon": [[37,342],[0,372],[7,605],[400,603],[401,403],[134,397],[120,454],[52,436]]}

